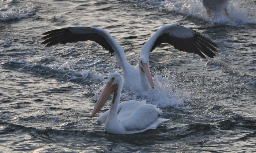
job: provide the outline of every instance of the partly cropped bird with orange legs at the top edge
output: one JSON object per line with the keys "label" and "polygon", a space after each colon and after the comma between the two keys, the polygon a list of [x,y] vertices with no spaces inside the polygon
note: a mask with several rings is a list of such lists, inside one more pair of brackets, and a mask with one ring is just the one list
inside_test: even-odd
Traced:
{"label": "partly cropped bird with orange legs at the top edge", "polygon": [[224,9],[227,16],[229,16],[229,13],[227,13],[227,6],[229,4],[229,0],[200,0],[204,7],[206,8],[206,11],[208,13],[209,17],[211,16],[211,11],[218,11],[220,9]]}

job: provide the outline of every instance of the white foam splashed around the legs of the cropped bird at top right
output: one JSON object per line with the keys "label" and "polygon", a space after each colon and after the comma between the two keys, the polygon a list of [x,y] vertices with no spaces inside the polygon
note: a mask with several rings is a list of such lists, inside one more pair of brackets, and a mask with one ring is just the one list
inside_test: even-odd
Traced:
{"label": "white foam splashed around the legs of the cropped bird at top right", "polygon": [[211,12],[212,18],[207,14],[206,9],[200,0],[165,0],[159,5],[160,8],[180,13],[185,16],[192,16],[207,21],[209,26],[216,24],[227,24],[238,26],[240,24],[256,24],[256,5],[251,0],[248,1],[230,1],[226,15],[224,10]]}

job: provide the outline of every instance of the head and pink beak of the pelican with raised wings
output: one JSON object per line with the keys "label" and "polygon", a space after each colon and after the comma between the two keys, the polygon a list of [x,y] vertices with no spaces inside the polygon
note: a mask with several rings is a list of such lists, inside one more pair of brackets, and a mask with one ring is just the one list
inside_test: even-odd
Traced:
{"label": "head and pink beak of the pelican with raised wings", "polygon": [[148,60],[145,57],[139,59],[140,69],[147,76],[150,86],[154,89],[154,81],[149,71]]}

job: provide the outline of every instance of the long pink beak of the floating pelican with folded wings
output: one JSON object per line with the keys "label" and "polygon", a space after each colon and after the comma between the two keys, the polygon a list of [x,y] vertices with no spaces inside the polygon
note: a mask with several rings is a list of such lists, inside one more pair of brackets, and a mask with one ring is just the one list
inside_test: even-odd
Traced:
{"label": "long pink beak of the floating pelican with folded wings", "polygon": [[91,113],[91,118],[101,110],[101,108],[106,104],[110,94],[117,91],[118,85],[111,85],[110,82],[107,82],[105,88],[103,89],[101,95],[99,96],[99,99],[97,100],[93,112]]}

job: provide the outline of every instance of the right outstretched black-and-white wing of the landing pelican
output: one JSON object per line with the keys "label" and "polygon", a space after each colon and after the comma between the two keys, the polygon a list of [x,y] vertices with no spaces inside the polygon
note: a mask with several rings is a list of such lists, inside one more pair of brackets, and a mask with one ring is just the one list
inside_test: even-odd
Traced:
{"label": "right outstretched black-and-white wing of the landing pelican", "polygon": [[178,49],[179,51],[198,54],[204,59],[206,57],[203,53],[208,57],[214,58],[215,54],[213,52],[218,52],[214,48],[218,48],[218,45],[192,29],[180,25],[165,25],[155,32],[143,45],[140,57],[146,57],[148,59],[150,52],[162,43],[173,45],[174,49]]}

